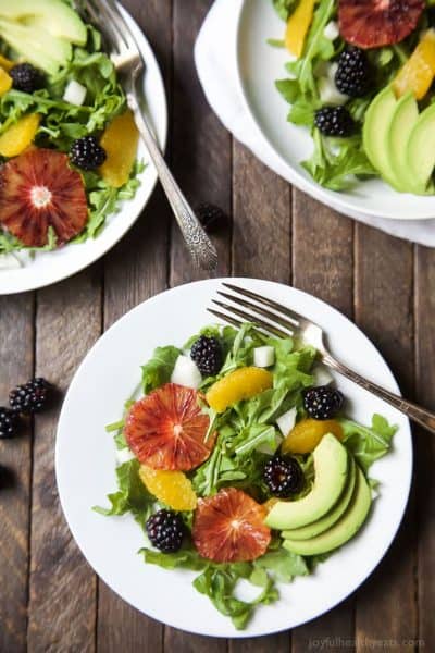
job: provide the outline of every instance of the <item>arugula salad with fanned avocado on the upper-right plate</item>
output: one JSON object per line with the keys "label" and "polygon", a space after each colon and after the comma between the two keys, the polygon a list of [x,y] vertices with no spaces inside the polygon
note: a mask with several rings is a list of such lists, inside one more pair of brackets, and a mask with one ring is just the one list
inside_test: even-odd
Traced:
{"label": "arugula salad with fanned avocado on the upper-right plate", "polygon": [[291,61],[276,88],[288,121],[310,130],[302,167],[322,186],[382,177],[434,195],[435,29],[432,0],[272,0]]}

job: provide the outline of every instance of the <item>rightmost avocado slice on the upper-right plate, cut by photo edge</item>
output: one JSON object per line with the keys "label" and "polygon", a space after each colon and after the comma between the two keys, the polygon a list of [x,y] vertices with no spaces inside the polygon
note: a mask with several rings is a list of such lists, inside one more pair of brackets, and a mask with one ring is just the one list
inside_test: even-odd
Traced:
{"label": "rightmost avocado slice on the upper-right plate, cut by photo edge", "polygon": [[409,176],[413,180],[412,193],[425,195],[435,165],[435,104],[419,116],[409,136],[407,151]]}

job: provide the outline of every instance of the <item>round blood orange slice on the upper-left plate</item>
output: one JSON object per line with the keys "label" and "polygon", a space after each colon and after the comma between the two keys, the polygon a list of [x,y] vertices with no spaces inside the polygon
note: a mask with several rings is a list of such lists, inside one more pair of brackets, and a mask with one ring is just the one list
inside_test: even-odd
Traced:
{"label": "round blood orange slice on the upper-left plate", "polygon": [[54,230],[58,245],[85,226],[88,206],[82,175],[62,152],[32,149],[0,170],[0,224],[27,247],[48,243]]}

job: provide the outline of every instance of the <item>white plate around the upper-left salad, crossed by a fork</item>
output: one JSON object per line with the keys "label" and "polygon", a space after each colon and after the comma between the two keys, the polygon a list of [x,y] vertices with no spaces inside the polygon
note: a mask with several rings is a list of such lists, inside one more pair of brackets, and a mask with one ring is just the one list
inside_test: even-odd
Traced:
{"label": "white plate around the upper-left salad, crossed by a fork", "polygon": [[[146,110],[154,127],[160,147],[164,149],[167,135],[167,106],[162,75],[154,53],[141,29],[132,16],[123,8],[121,9],[145,61],[144,97],[146,98]],[[86,243],[70,244],[55,251],[38,252],[32,260],[26,260],[18,252],[18,258],[24,260],[22,267],[0,269],[0,295],[23,293],[57,283],[90,266],[109,251],[140,215],[157,182],[156,169],[150,163],[147,149],[142,143],[139,145],[138,159],[142,160],[147,167],[139,175],[140,186],[136,196],[132,200],[122,202],[120,205],[121,210],[107,218],[105,226],[97,238],[89,238]]]}

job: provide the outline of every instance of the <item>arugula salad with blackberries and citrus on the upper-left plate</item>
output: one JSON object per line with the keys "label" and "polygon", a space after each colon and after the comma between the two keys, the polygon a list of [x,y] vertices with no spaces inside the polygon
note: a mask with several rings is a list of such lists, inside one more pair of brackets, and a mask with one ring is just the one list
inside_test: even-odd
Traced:
{"label": "arugula salad with blackberries and citrus on the upper-left plate", "polygon": [[2,2],[0,263],[97,236],[139,186],[137,147],[101,35],[73,3]]}

